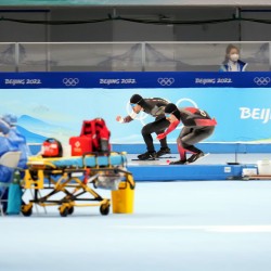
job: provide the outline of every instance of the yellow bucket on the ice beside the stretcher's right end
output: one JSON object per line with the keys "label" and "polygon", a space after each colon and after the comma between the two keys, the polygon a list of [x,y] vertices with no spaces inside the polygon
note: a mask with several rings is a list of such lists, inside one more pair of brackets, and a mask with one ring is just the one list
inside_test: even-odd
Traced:
{"label": "yellow bucket on the ice beside the stretcher's right end", "polygon": [[132,214],[134,188],[129,182],[120,182],[118,190],[112,191],[113,214]]}

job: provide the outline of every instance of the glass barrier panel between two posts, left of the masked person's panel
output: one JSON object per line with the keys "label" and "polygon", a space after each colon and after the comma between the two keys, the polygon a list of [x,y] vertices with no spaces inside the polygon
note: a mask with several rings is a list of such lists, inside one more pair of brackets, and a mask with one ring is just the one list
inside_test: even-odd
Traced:
{"label": "glass barrier panel between two posts, left of the masked person's panel", "polygon": [[111,72],[142,68],[140,43],[21,43],[20,70]]}

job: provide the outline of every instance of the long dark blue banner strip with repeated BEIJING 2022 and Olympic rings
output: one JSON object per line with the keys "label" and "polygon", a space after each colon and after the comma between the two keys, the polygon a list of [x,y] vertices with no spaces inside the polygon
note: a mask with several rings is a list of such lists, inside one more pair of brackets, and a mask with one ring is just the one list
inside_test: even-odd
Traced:
{"label": "long dark blue banner strip with repeated BEIJING 2022 and Olympic rings", "polygon": [[0,89],[269,88],[270,72],[1,73]]}

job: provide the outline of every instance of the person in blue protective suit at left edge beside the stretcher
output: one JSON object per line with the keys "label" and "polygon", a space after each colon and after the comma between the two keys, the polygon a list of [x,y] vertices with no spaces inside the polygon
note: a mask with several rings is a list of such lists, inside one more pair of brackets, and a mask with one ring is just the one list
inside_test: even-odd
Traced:
{"label": "person in blue protective suit at left edge beside the stretcher", "polygon": [[[2,156],[7,152],[15,152],[20,151],[21,158],[18,163],[20,168],[26,168],[27,157],[29,156],[30,152],[26,144],[25,137],[21,134],[15,124],[17,121],[16,116],[7,114],[0,117],[0,156]],[[13,178],[13,169],[0,165],[0,182],[1,183],[10,183]],[[0,193],[3,192],[3,185],[0,185]],[[3,199],[8,198],[9,190],[4,191],[4,195],[2,196]],[[3,205],[3,211],[7,210],[7,204]]]}

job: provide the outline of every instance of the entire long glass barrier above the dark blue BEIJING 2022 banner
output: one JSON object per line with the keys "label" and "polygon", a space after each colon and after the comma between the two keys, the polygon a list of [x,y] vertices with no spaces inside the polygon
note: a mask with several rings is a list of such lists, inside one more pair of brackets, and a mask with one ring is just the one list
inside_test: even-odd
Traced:
{"label": "entire long glass barrier above the dark blue BEIJING 2022 banner", "polygon": [[0,43],[2,72],[217,72],[228,44],[248,72],[271,70],[270,43],[20,42]]}

